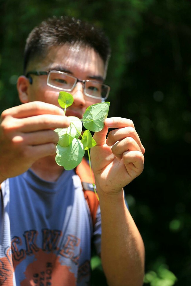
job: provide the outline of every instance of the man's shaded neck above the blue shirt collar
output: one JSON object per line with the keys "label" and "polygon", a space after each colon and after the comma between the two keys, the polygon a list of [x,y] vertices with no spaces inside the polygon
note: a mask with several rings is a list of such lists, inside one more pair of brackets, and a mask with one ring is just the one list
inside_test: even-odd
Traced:
{"label": "man's shaded neck above the blue shirt collar", "polygon": [[64,168],[57,165],[54,155],[39,159],[31,166],[31,170],[41,179],[55,182],[64,171]]}

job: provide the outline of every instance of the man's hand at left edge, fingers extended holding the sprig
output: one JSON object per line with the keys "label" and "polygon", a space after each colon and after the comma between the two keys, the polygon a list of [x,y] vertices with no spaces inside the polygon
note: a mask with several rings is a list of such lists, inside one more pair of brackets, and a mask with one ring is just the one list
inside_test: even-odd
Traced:
{"label": "man's hand at left edge, fingers extended holding the sprig", "polygon": [[69,120],[58,106],[34,101],[6,109],[0,120],[0,183],[22,174],[38,159],[54,155],[56,128]]}

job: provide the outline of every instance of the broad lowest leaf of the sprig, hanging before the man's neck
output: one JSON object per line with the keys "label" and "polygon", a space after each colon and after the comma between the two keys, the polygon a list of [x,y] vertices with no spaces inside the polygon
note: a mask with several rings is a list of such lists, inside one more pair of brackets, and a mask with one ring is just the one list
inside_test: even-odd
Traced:
{"label": "broad lowest leaf of the sprig, hanging before the man's neck", "polygon": [[56,163],[65,170],[72,170],[81,163],[85,151],[81,140],[74,138],[67,147],[57,144],[56,153]]}

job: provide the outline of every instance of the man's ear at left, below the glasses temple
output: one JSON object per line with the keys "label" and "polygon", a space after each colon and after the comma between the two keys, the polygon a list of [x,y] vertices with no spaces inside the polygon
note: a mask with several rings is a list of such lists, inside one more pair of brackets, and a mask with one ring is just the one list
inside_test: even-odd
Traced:
{"label": "man's ear at left, below the glasses temple", "polygon": [[17,80],[17,86],[16,86],[21,103],[29,102],[29,96],[28,96],[29,86],[30,86],[29,79],[24,75],[21,75]]}

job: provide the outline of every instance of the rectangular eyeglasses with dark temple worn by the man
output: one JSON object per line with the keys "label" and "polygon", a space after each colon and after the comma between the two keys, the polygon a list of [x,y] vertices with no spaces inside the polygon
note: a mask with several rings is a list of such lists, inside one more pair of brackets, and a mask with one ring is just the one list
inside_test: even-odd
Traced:
{"label": "rectangular eyeglasses with dark temple worn by the man", "polygon": [[70,92],[74,89],[77,82],[82,82],[82,87],[84,89],[84,94],[88,97],[106,99],[108,98],[110,92],[110,86],[103,84],[102,82],[97,82],[94,80],[80,80],[77,77],[68,75],[65,72],[60,72],[57,70],[50,70],[47,72],[40,71],[30,71],[27,72],[26,77],[29,78],[30,84],[32,84],[32,78],[30,75],[48,75],[47,84],[50,87],[54,87],[59,90]]}

